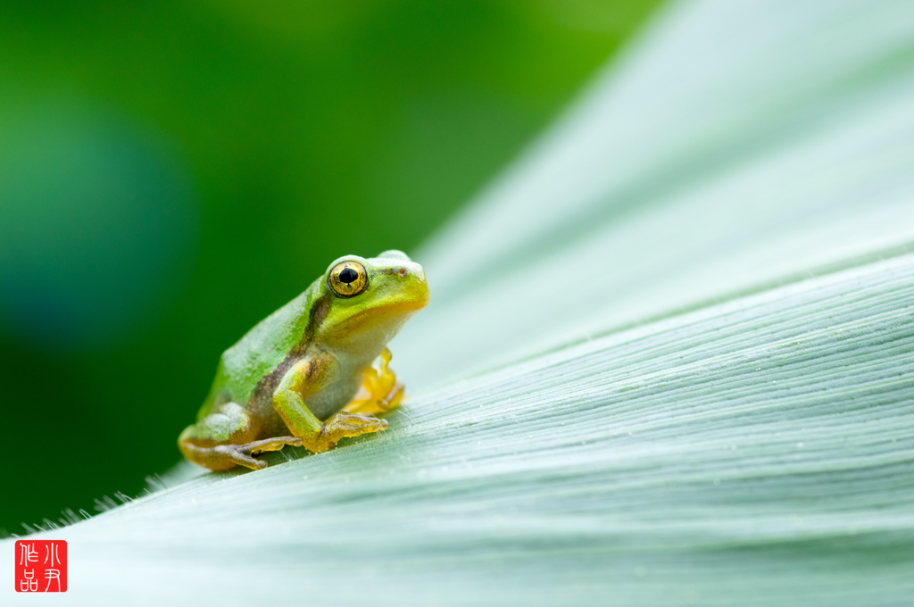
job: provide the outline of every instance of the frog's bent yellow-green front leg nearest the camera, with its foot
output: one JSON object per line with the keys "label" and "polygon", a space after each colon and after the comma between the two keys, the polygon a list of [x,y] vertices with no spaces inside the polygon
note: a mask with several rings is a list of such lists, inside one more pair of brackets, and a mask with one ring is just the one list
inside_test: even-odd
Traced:
{"label": "frog's bent yellow-green front leg nearest the camera, with its foot", "polygon": [[293,436],[303,446],[322,453],[345,436],[358,436],[388,427],[388,422],[371,415],[340,411],[321,422],[309,410],[304,399],[335,382],[337,367],[329,357],[305,358],[286,372],[273,393],[273,409],[279,413]]}

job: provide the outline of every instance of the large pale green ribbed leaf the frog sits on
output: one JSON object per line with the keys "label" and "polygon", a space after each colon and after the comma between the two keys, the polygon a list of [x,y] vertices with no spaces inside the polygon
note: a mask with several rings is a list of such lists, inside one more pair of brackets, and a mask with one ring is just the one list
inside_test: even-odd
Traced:
{"label": "large pale green ribbed leaf the frog sits on", "polygon": [[669,7],[420,251],[390,430],[55,532],[70,599],[908,602],[912,34]]}

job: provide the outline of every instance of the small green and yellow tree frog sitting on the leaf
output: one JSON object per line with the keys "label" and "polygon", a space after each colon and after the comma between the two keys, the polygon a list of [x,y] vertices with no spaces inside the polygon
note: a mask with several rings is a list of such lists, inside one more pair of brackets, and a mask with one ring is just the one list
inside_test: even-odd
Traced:
{"label": "small green and yellow tree frog sitting on the leaf", "polygon": [[422,266],[400,250],[336,259],[222,354],[179,450],[213,471],[262,470],[260,456],[286,445],[324,453],[386,430],[377,415],[404,395],[388,342],[429,300]]}

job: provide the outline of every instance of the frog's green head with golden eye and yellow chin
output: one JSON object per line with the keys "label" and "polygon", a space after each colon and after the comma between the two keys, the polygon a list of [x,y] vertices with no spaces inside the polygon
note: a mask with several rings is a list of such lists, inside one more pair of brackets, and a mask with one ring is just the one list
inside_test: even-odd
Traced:
{"label": "frog's green head with golden eye and yellow chin", "polygon": [[422,266],[399,250],[339,258],[324,273],[321,290],[321,338],[339,347],[380,350],[429,303]]}

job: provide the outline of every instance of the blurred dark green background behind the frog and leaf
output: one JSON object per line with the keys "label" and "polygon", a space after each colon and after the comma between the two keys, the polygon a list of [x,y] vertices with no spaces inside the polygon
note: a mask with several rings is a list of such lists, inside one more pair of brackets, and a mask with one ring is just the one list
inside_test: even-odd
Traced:
{"label": "blurred dark green background behind the frog and leaf", "polygon": [[0,529],[175,464],[222,350],[419,244],[657,4],[2,3]]}

